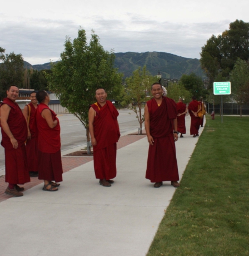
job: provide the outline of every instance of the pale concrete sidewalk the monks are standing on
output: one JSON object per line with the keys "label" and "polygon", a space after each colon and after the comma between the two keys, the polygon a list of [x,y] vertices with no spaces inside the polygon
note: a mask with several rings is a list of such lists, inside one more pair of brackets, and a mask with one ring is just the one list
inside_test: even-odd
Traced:
{"label": "pale concrete sidewalk the monks are standing on", "polygon": [[[186,127],[176,142],[180,177],[198,140],[189,116]],[[147,137],[119,149],[111,188],[98,184],[90,161],[64,173],[55,193],[39,184],[2,201],[0,255],[146,255],[176,190],[170,181],[155,189],[145,179],[147,154]]]}

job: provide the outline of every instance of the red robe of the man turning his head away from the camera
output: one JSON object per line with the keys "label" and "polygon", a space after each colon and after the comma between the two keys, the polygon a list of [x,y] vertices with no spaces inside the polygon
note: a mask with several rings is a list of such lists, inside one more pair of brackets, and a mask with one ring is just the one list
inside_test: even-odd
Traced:
{"label": "red robe of the man turning his head away from the camera", "polygon": [[[46,119],[42,117],[42,111],[51,111],[53,121],[57,119],[57,125],[52,129]],[[34,127],[38,136],[38,179],[62,181],[61,161],[61,128],[56,114],[46,104],[39,104],[36,109]]]}

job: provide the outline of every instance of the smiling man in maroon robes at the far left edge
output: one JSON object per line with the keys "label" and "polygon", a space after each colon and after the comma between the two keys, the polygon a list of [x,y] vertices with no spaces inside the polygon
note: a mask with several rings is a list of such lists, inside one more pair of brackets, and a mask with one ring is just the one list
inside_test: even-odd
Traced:
{"label": "smiling man in maroon robes at the far left edge", "polygon": [[30,181],[24,144],[28,129],[22,110],[16,104],[18,95],[18,87],[10,86],[7,98],[3,99],[1,104],[1,145],[5,152],[5,181],[8,183],[5,193],[12,196],[23,196],[24,188],[17,184]]}

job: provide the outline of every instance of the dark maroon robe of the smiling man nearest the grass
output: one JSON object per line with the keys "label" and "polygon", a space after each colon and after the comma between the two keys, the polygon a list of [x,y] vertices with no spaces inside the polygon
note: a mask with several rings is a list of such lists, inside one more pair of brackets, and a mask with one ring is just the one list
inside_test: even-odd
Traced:
{"label": "dark maroon robe of the smiling man nearest the grass", "polygon": [[163,97],[162,104],[155,99],[147,101],[150,114],[150,134],[153,146],[149,146],[146,179],[151,182],[179,180],[176,146],[173,136],[173,120],[176,119],[176,103]]}

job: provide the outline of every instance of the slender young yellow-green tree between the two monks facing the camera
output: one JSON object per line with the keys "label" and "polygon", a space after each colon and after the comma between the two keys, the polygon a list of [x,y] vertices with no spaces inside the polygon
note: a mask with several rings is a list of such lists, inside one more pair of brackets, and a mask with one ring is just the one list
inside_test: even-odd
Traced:
{"label": "slender young yellow-green tree between the two monks facing the camera", "polygon": [[142,109],[150,100],[153,82],[157,82],[157,77],[151,76],[150,72],[146,70],[146,66],[138,67],[137,70],[133,71],[132,76],[126,78],[126,95],[123,102],[128,104],[128,108],[136,113],[140,124],[140,134],[142,134],[142,124],[145,121],[145,114],[142,114]]}

